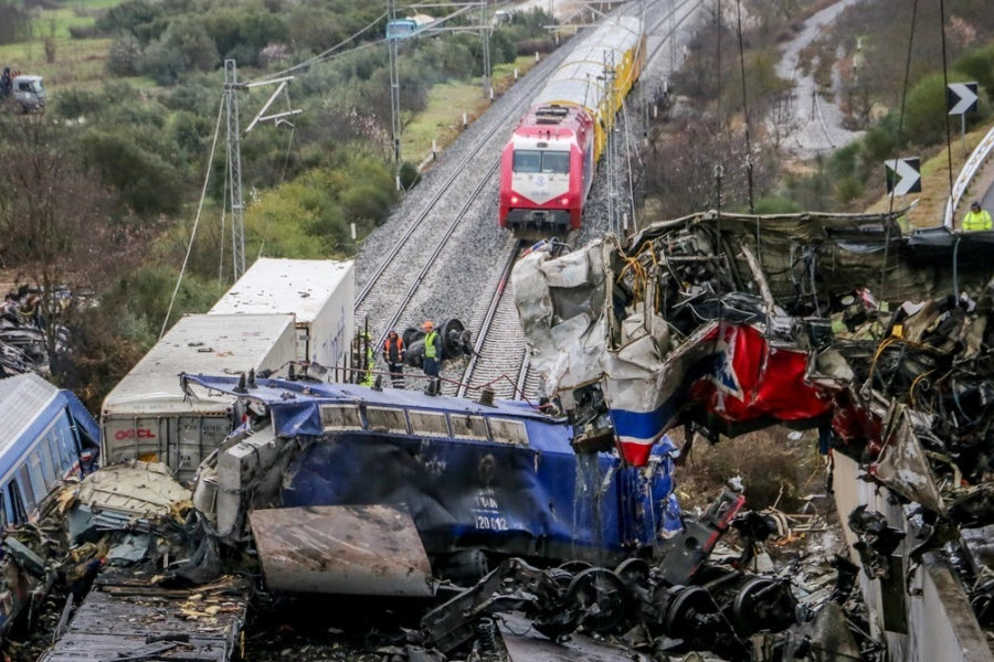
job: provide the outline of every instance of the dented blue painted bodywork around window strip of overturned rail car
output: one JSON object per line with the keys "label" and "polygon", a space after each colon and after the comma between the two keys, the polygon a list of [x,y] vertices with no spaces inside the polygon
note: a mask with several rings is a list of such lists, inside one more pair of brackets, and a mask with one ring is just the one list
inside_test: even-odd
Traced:
{"label": "dented blue painted bodywork around window strip of overturned rail car", "polygon": [[[234,394],[233,377],[188,376]],[[236,394],[237,395],[237,394]],[[606,560],[652,548],[680,528],[673,456],[664,438],[648,469],[616,453],[577,456],[572,429],[522,403],[488,407],[417,392],[261,380],[240,394],[268,407],[277,436],[302,445],[284,476],[287,506],[385,503],[405,508],[430,554],[483,547],[550,560]],[[528,444],[384,431],[330,430],[320,406],[409,408],[516,419]]]}

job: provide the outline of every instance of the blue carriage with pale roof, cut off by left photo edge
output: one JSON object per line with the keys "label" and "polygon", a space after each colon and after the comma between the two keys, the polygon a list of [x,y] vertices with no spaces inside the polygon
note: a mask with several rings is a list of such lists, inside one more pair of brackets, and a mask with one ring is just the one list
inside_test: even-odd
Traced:
{"label": "blue carriage with pale roof, cut off by left photo edge", "polygon": [[36,520],[62,480],[93,470],[99,434],[71,392],[33,373],[0,380],[0,524]]}

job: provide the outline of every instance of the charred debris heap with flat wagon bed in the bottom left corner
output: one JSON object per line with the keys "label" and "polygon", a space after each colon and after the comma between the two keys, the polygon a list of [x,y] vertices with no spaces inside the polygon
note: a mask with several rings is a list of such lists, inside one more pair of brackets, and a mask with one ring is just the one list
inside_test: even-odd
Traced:
{"label": "charred debris heap with flat wagon bed in the bottom left corner", "polygon": [[[49,662],[230,659],[250,585],[208,558],[190,496],[165,465],[116,465],[65,484],[38,522],[13,528],[0,560],[4,627],[25,608],[32,621],[46,598],[65,600],[49,629],[28,623],[21,654],[54,641]],[[51,609],[42,616],[52,620]]]}

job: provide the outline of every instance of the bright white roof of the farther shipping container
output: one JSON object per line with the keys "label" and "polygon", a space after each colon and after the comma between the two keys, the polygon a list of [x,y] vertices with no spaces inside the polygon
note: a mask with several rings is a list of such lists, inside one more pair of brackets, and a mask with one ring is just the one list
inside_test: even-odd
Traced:
{"label": "bright white roof of the farther shipping container", "polygon": [[258,258],[209,314],[289,312],[313,322],[352,278],[351,261]]}

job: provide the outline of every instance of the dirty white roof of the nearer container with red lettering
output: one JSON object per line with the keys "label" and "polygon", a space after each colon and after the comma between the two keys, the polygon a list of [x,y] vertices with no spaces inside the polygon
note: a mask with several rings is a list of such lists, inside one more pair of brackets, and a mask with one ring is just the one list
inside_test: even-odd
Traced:
{"label": "dirty white roof of the nearer container with red lettering", "polygon": [[195,407],[193,403],[183,403],[179,373],[278,369],[278,364],[265,362],[278,343],[288,343],[286,360],[293,359],[293,329],[292,314],[186,316],[107,395],[104,415],[223,410],[231,397],[200,398]]}

